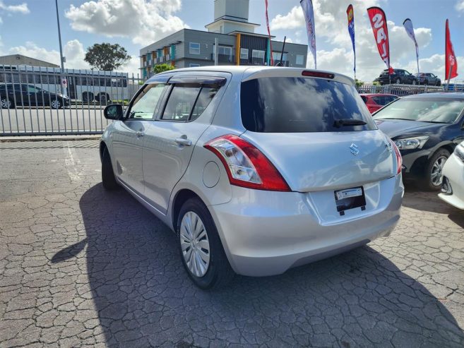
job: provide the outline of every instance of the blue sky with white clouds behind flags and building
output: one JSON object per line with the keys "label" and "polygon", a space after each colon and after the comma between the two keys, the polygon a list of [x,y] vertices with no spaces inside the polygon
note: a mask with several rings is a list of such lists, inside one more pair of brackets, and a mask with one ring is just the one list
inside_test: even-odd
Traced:
{"label": "blue sky with white clouds behind flags and building", "polygon": [[[266,33],[265,0],[250,0],[249,21]],[[131,60],[121,71],[137,73],[139,50],[182,28],[205,30],[213,21],[213,0],[59,0],[66,68],[88,68],[85,49],[118,43]],[[271,35],[307,44],[299,0],[268,0]],[[445,20],[458,57],[458,82],[464,82],[464,0],[313,0],[318,68],[353,77],[353,52],[346,8],[355,11],[357,78],[372,81],[386,68],[374,41],[367,8],[386,13],[391,65],[417,72],[415,46],[403,20],[410,18],[419,45],[420,71],[444,79]],[[24,54],[59,64],[54,0],[0,0],[0,55]],[[308,54],[307,68],[314,68]]]}

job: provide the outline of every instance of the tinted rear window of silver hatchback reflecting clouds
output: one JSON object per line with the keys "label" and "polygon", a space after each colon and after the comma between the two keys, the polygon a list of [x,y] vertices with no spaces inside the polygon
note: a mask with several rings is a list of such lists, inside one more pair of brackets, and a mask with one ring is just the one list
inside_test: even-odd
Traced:
{"label": "tinted rear window of silver hatchback reflecting clouds", "polygon": [[[303,133],[377,129],[351,85],[316,78],[256,78],[242,83],[242,123],[253,132]],[[362,126],[338,120],[361,120]]]}

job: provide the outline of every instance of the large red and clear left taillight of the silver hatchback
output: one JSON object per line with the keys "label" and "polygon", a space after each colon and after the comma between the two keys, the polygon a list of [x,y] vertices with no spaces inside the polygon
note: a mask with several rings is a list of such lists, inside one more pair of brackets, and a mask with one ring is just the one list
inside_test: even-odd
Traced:
{"label": "large red and clear left taillight of the silver hatchback", "polygon": [[238,136],[221,136],[204,145],[224,164],[230,184],[268,191],[290,191],[282,175],[263,153]]}

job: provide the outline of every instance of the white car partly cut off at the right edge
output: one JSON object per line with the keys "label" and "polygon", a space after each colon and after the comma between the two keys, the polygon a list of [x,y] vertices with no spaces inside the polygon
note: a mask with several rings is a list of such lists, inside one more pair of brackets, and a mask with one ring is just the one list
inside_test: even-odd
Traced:
{"label": "white car partly cut off at the right edge", "polygon": [[454,149],[446,161],[439,197],[456,208],[464,209],[464,141]]}

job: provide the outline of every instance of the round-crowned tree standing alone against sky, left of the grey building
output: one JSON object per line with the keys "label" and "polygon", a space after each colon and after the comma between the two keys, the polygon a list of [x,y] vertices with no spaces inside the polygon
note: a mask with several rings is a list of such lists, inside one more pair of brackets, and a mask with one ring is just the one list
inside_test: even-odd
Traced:
{"label": "round-crowned tree standing alone against sky, left of the grey building", "polygon": [[131,59],[124,47],[119,44],[94,44],[87,48],[84,60],[92,66],[92,68],[104,71],[114,71],[124,65]]}

